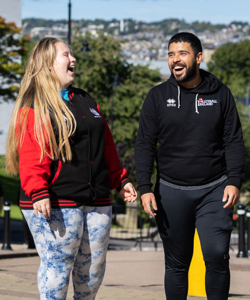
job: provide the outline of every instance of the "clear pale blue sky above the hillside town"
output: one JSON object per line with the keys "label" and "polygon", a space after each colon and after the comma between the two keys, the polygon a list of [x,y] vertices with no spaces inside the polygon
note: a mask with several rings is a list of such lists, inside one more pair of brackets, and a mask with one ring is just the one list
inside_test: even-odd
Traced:
{"label": "clear pale blue sky above the hillside town", "polygon": [[[67,19],[68,1],[21,0],[21,17]],[[132,18],[150,22],[177,18],[228,24],[233,20],[250,23],[249,11],[248,0],[71,0],[71,19]]]}

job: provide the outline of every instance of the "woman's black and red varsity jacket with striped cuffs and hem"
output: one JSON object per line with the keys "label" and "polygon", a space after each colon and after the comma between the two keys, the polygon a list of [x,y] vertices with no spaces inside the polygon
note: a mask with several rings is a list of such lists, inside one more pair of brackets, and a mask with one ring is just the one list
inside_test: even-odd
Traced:
{"label": "woman's black and red varsity jacket with striped cuffs and hem", "polygon": [[27,128],[19,149],[21,209],[33,209],[32,203],[44,198],[50,198],[52,208],[107,206],[111,204],[110,189],[119,190],[129,182],[98,104],[79,88],[71,87],[68,98],[64,101],[76,120],[76,131],[70,137],[70,161],[45,156],[40,162],[34,110],[28,109]]}

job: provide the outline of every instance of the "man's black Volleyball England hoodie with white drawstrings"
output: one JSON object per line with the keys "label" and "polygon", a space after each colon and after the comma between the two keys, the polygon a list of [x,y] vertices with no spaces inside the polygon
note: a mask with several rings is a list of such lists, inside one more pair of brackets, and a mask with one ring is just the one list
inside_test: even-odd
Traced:
{"label": "man's black Volleyball England hoodie with white drawstrings", "polygon": [[152,192],[155,153],[157,173],[165,181],[195,186],[226,175],[228,185],[240,188],[244,142],[233,96],[211,73],[200,69],[200,76],[194,88],[182,87],[171,75],[149,90],[135,142],[140,195]]}

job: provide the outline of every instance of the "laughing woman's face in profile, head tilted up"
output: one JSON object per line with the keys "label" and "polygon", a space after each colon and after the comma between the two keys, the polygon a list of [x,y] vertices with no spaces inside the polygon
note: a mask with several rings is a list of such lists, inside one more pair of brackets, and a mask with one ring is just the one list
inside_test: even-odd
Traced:
{"label": "laughing woman's face in profile, head tilted up", "polygon": [[55,44],[55,50],[53,68],[63,90],[74,81],[75,58],[71,55],[69,47],[61,41]]}

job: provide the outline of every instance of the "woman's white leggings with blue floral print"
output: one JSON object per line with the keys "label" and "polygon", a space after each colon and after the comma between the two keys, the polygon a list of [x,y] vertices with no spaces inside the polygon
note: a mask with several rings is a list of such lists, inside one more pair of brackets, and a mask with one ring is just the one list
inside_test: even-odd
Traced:
{"label": "woman's white leggings with blue floral print", "polygon": [[74,300],[93,300],[105,272],[111,206],[52,209],[49,218],[22,213],[40,256],[41,300],[65,300],[70,272]]}

